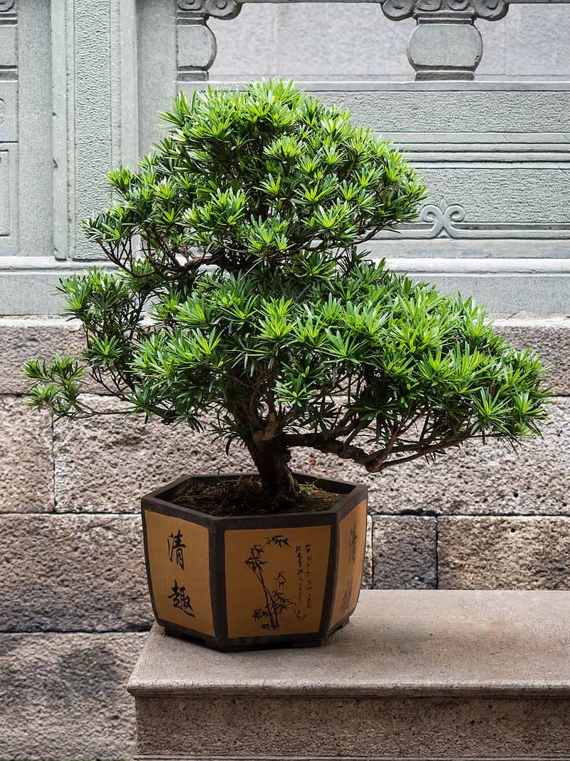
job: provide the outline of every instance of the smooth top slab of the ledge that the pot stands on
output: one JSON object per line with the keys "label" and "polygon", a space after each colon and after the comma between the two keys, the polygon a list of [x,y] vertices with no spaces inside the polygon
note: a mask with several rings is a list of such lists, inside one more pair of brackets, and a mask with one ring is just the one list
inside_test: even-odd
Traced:
{"label": "smooth top slab of the ledge that the pot stands on", "polygon": [[364,590],[321,648],[220,654],[156,623],[131,695],[570,699],[570,593]]}

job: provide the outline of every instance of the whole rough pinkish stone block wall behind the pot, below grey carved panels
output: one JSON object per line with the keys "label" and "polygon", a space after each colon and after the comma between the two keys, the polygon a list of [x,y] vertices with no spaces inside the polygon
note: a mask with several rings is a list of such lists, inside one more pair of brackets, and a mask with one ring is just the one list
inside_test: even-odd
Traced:
{"label": "whole rough pinkish stone block wall behind the pot, below grey carved panels", "polygon": [[[311,451],[308,473],[370,489],[364,583],[375,588],[570,588],[570,320],[502,320],[552,365],[543,439],[472,444],[383,476]],[[30,412],[23,361],[81,348],[59,318],[0,319],[0,759],[126,759],[125,683],[150,628],[138,498],[183,473],[251,470],[207,434]],[[102,400],[93,387],[93,403]]]}

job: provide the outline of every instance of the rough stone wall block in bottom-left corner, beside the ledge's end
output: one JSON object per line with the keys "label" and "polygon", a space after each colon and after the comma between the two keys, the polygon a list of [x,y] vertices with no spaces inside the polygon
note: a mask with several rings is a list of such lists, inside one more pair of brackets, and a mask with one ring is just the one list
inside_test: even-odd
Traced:
{"label": "rough stone wall block in bottom-left corner, beside the ledge's end", "polygon": [[0,635],[0,759],[126,759],[145,634]]}

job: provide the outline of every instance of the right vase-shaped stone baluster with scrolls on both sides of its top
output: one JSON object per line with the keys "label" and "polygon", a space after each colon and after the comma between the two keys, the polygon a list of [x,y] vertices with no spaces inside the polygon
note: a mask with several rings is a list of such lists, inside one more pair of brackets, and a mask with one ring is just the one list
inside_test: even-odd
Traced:
{"label": "right vase-shaped stone baluster with scrolls on both sides of its top", "polygon": [[381,0],[381,5],[392,21],[410,16],[417,21],[407,46],[417,80],[473,79],[483,55],[473,21],[499,21],[508,11],[504,0]]}

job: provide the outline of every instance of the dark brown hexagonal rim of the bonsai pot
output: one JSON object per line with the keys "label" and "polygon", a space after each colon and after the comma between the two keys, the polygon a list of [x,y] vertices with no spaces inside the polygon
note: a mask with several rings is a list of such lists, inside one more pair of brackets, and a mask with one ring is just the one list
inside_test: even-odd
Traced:
{"label": "dark brown hexagonal rim of the bonsai pot", "polygon": [[200,481],[206,481],[206,482],[220,482],[220,481],[236,481],[239,478],[252,478],[252,479],[258,479],[258,473],[196,473],[195,475],[188,475],[188,476],[181,476],[180,478],[176,479],[176,481],[172,481],[169,484],[166,484],[166,486],[161,486],[160,489],[155,489],[154,492],[150,492],[149,494],[145,494],[141,501],[143,503],[143,506],[145,503],[148,505],[149,501],[154,502],[156,505],[159,503],[160,505],[163,505],[166,508],[176,508],[176,511],[179,512],[179,514],[182,515],[188,515],[188,517],[195,517],[198,519],[207,519],[208,523],[220,523],[223,521],[239,521],[240,524],[246,524],[249,521],[253,523],[258,523],[260,518],[276,518],[276,517],[287,517],[287,519],[294,518],[294,519],[300,519],[300,518],[306,518],[308,516],[311,516],[311,522],[315,520],[315,518],[318,518],[319,516],[325,517],[325,516],[331,516],[331,514],[336,514],[338,512],[342,512],[344,508],[350,505],[352,507],[354,504],[356,504],[356,501],[360,501],[361,499],[365,499],[366,495],[368,494],[368,486],[363,483],[353,483],[350,481],[341,481],[340,479],[329,479],[324,478],[321,476],[310,476],[307,473],[293,473],[293,476],[300,482],[300,483],[314,483],[315,486],[318,486],[319,489],[323,489],[325,492],[337,492],[340,496],[339,500],[334,504],[331,508],[328,508],[328,510],[319,510],[319,511],[312,511],[312,512],[288,512],[288,513],[258,513],[254,515],[211,515],[209,513],[203,513],[199,510],[194,510],[193,508],[186,508],[182,505],[174,505],[173,502],[169,501],[170,498],[175,496],[177,493],[182,492],[183,489],[186,488],[190,483],[200,480]]}

